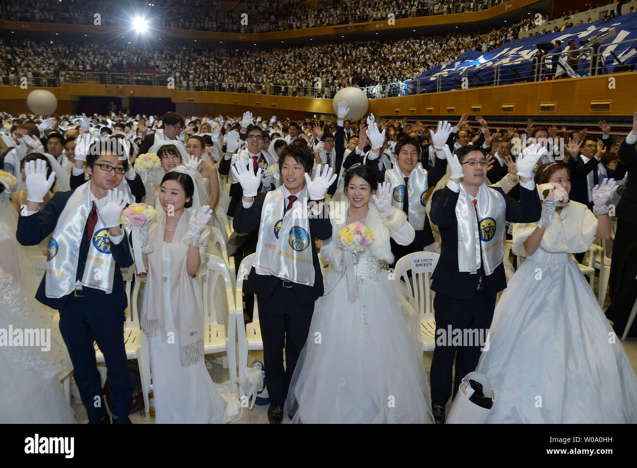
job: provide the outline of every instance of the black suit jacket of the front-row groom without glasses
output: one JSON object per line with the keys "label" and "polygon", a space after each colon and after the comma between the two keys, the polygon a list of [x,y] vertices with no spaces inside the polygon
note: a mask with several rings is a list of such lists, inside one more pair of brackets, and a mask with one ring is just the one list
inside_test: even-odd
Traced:
{"label": "black suit jacket of the front-row groom without glasses", "polygon": [[[240,234],[253,234],[259,232],[261,224],[261,210],[266,194],[259,194],[254,199],[254,203],[250,208],[243,208],[243,203],[239,203],[234,213],[233,227]],[[314,239],[325,240],[332,236],[332,223],[327,217],[327,206],[323,205],[323,212],[318,217],[310,218],[310,246],[312,249],[312,262],[314,264],[314,285],[300,285],[292,283],[292,289],[299,301],[299,304],[305,306],[314,302],[318,297],[323,295],[323,275],[320,271],[320,263],[318,262],[318,254]],[[274,292],[276,285],[281,281],[280,278],[271,274],[257,274],[254,267],[250,270],[250,288],[255,292],[259,299],[268,300]]]}

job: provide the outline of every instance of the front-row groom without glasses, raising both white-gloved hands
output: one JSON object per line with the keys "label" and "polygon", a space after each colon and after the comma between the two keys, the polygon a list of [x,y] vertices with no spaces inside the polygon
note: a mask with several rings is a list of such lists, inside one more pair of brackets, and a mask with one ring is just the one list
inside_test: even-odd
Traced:
{"label": "front-row groom without glasses, raising both white-gloved hands", "polygon": [[317,175],[310,180],[313,153],[303,142],[291,144],[278,159],[283,185],[257,195],[261,169],[255,174],[251,163],[240,159],[232,167],[243,188],[233,226],[238,234],[259,230],[249,280],[259,304],[270,397],[268,421],[278,424],[283,420],[283,403],[294,367],[310,332],[314,302],[323,295],[323,276],[314,239],[332,236],[332,223],[323,202],[336,175],[327,166],[321,174],[318,165]]}

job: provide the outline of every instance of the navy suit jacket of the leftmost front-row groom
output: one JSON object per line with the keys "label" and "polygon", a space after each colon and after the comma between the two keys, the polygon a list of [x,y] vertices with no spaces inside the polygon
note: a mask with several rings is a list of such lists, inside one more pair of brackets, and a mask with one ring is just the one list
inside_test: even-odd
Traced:
{"label": "navy suit jacket of the leftmost front-row groom", "polygon": [[[38,245],[51,234],[55,229],[58,218],[62,214],[64,206],[66,206],[66,202],[68,202],[73,192],[74,190],[69,192],[57,192],[38,213],[33,213],[31,216],[20,216],[18,218],[18,230],[16,232],[18,242],[22,245]],[[87,253],[89,252],[89,244],[85,239],[86,229],[84,229],[80,252],[78,253],[76,280],[82,279]],[[102,308],[110,308],[113,309],[113,311],[123,312],[127,306],[127,300],[120,267],[129,267],[133,263],[127,239],[122,239],[118,245],[111,242],[111,253],[113,260],[115,260],[113,292],[106,294],[106,292],[94,288],[83,288],[84,297],[90,301],[87,303],[95,304]],[[38,292],[36,292],[36,299],[38,299],[39,302],[42,302],[42,304],[52,309],[58,310],[64,307],[69,297],[71,297],[70,294],[61,298],[47,297],[45,293],[45,278],[42,278]]]}

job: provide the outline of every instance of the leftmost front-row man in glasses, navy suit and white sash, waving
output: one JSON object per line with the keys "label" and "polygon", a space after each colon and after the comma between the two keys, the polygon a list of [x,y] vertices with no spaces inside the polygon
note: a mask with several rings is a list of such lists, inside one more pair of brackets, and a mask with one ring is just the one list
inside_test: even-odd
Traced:
{"label": "leftmost front-row man in glasses, navy suit and white sash, waving", "polygon": [[29,162],[25,167],[27,204],[20,211],[16,234],[20,244],[38,245],[53,233],[36,299],[60,312],[60,332],[93,424],[110,423],[94,341],[108,367],[113,423],[131,422],[132,390],[124,348],[127,300],[120,267],[131,266],[133,259],[119,223],[124,194],[113,190],[127,165],[127,159],[115,153],[89,152],[90,181],[75,190],[57,192],[40,211],[38,202],[51,187],[54,174],[47,180],[44,162]]}

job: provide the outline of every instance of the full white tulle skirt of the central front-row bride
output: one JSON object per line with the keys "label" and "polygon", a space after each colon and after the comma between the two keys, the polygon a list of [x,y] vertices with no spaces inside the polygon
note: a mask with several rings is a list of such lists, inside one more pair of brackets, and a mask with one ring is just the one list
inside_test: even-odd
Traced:
{"label": "full white tulle skirt of the central front-row bride", "polygon": [[347,275],[327,274],[285,413],[297,423],[433,422],[422,350],[408,330],[399,282],[369,249],[354,269],[354,302]]}

